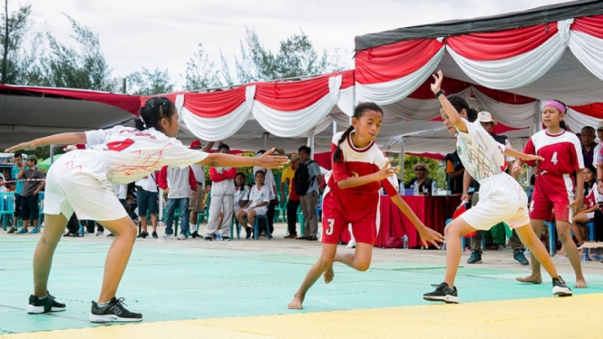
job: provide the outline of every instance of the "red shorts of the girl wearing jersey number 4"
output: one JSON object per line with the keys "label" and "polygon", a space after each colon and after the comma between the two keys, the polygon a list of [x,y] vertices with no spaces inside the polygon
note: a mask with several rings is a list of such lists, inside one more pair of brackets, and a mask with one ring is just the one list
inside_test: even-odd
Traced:
{"label": "red shorts of the girl wearing jersey number 4", "polygon": [[536,176],[536,185],[530,203],[530,218],[535,220],[555,220],[571,223],[573,210],[568,208],[574,200],[574,179],[570,174],[562,176],[542,174]]}

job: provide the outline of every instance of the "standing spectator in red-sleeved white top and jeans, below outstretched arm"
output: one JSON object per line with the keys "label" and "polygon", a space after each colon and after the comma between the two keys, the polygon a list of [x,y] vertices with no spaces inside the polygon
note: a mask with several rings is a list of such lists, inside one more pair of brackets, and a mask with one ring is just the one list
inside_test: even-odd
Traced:
{"label": "standing spectator in red-sleeved white top and jeans, below outstretched arm", "polygon": [[164,238],[174,234],[171,224],[174,221],[176,208],[180,208],[180,234],[179,240],[186,240],[189,231],[189,197],[197,194],[197,180],[190,166],[180,169],[179,166],[163,166],[157,177],[159,187],[168,192],[168,202],[165,211],[165,235]]}

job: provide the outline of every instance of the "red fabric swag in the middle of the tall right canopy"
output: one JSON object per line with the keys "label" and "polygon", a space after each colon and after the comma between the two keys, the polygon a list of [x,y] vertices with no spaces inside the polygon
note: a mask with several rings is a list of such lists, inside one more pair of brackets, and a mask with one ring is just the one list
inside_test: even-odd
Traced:
{"label": "red fabric swag in the middle of the tall right canopy", "polygon": [[446,44],[471,60],[501,60],[530,52],[557,32],[557,23],[538,24],[500,32],[451,36],[446,38]]}

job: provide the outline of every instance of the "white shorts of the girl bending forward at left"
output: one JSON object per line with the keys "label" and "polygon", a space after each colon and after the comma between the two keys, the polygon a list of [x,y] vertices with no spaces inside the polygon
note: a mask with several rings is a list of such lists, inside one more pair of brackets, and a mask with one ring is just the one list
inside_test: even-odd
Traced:
{"label": "white shorts of the girl bending forward at left", "polygon": [[82,220],[117,220],[128,216],[107,180],[98,152],[72,150],[53,163],[46,176],[44,214]]}

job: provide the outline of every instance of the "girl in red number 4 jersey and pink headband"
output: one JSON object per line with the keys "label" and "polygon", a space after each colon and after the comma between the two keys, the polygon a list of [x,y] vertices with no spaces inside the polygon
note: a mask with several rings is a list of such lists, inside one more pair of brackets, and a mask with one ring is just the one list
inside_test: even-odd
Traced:
{"label": "girl in red number 4 jersey and pink headband", "polygon": [[[587,282],[582,275],[578,247],[569,232],[572,214],[582,207],[584,160],[580,140],[575,134],[565,130],[563,117],[566,111],[567,107],[563,102],[545,102],[542,108],[542,123],[547,129],[532,135],[523,152],[537,154],[544,159],[538,161],[540,173],[536,177],[530,204],[531,226],[537,235],[542,234],[544,220],[552,220],[552,210],[555,210],[557,234],[576,273],[575,286],[584,288]],[[534,166],[534,161],[527,163]],[[515,161],[513,172],[519,173],[522,164],[521,160]],[[522,283],[540,284],[540,263],[534,260],[533,254],[531,258],[532,274],[517,280]]]}

